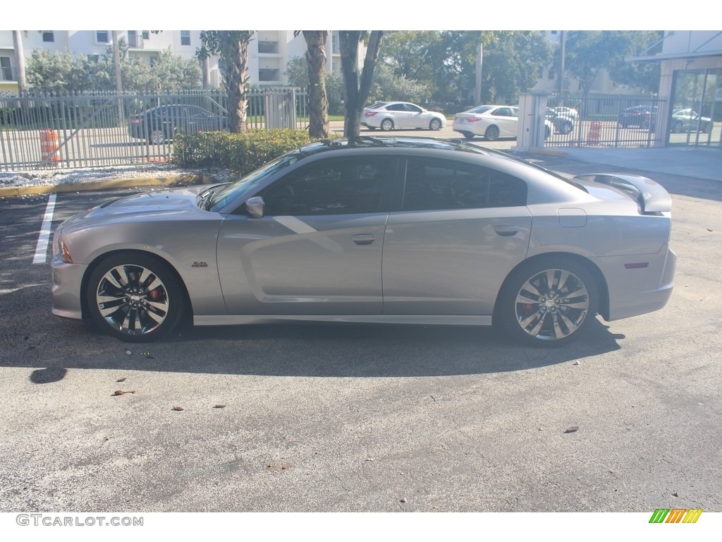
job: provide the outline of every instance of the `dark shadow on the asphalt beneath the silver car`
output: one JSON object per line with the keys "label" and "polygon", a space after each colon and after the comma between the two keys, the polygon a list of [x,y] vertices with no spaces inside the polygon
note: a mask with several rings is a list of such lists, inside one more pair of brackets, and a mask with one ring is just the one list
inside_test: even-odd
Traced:
{"label": "dark shadow on the asphalt beneath the silver car", "polygon": [[[155,343],[123,343],[90,323],[50,314],[48,288],[2,296],[27,311],[0,314],[0,366],[36,371],[32,382],[68,369],[126,369],[283,377],[436,377],[537,369],[621,348],[598,319],[561,348],[527,348],[494,328],[425,325],[274,324],[182,327]],[[35,298],[35,303],[27,303]],[[27,323],[32,322],[32,331]],[[40,372],[38,372],[40,371]]]}

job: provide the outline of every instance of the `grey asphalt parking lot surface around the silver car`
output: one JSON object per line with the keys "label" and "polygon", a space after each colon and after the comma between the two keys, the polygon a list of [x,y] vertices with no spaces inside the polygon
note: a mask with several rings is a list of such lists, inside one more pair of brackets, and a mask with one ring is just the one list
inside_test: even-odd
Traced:
{"label": "grey asphalt parking lot surface around the silver car", "polygon": [[[0,200],[0,511],[722,511],[722,185],[653,178],[669,304],[542,350],[421,325],[121,343],[51,314],[48,196]],[[58,194],[53,228],[120,193]]]}

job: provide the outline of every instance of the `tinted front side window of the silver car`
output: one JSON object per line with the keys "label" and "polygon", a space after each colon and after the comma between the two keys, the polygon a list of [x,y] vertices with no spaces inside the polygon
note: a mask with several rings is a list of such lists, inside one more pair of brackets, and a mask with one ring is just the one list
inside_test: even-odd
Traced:
{"label": "tinted front side window of the silver car", "polygon": [[336,158],[300,168],[266,188],[264,214],[354,215],[379,212],[396,158]]}

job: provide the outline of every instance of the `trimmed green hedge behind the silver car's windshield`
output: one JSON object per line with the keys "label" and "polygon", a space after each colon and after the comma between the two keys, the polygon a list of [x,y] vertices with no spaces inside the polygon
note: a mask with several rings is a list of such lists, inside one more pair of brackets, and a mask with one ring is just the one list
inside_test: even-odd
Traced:
{"label": "trimmed green hedge behind the silver car's windshield", "polygon": [[178,134],[173,138],[173,163],[184,168],[228,168],[245,175],[311,141],[308,132],[291,129]]}

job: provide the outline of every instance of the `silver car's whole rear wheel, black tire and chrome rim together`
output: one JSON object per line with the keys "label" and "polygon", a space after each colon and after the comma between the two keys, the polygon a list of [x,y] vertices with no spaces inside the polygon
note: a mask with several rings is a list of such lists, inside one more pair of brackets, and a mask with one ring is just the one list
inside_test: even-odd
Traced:
{"label": "silver car's whole rear wheel, black tire and chrome rim together", "polygon": [[599,288],[583,264],[543,257],[512,272],[500,293],[497,317],[516,342],[555,347],[583,335],[598,307]]}

